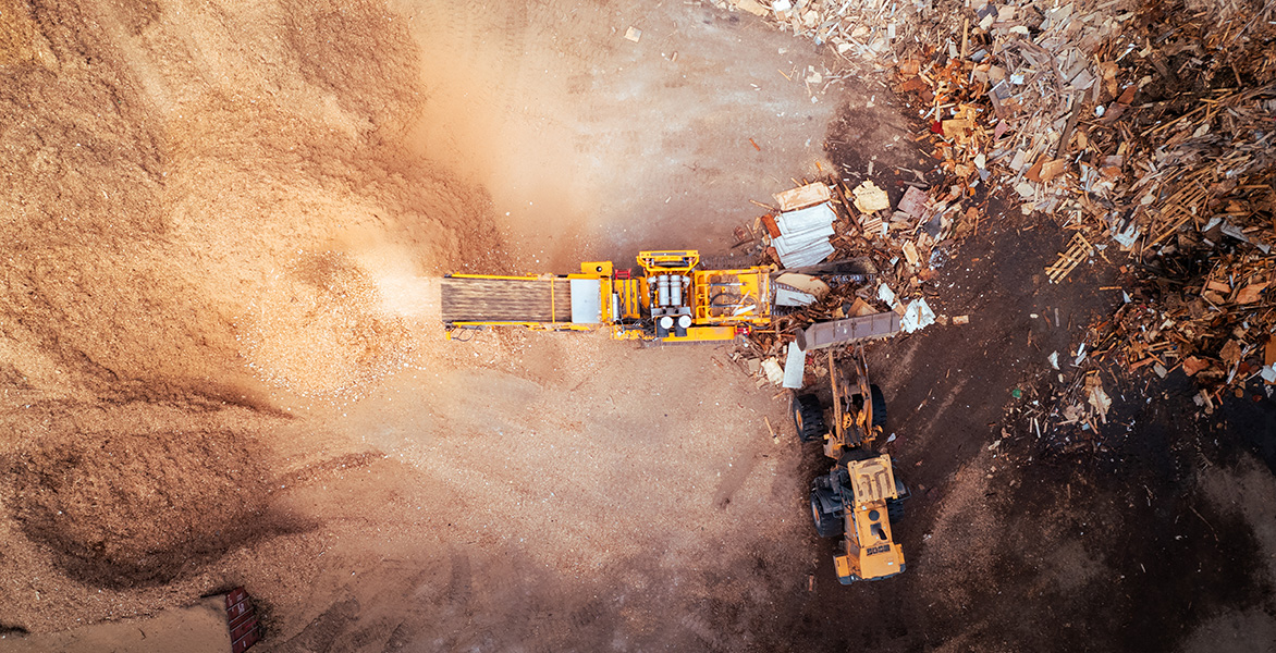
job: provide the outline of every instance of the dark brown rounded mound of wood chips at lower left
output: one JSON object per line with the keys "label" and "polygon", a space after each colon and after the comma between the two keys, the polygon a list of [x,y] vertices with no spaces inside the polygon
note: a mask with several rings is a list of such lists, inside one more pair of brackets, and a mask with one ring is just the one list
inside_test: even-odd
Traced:
{"label": "dark brown rounded mound of wood chips at lower left", "polygon": [[283,529],[265,515],[268,480],[253,444],[225,431],[48,437],[10,471],[14,517],[82,582],[166,583]]}

